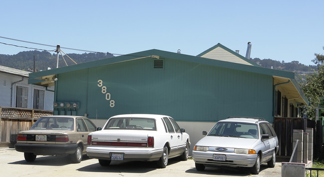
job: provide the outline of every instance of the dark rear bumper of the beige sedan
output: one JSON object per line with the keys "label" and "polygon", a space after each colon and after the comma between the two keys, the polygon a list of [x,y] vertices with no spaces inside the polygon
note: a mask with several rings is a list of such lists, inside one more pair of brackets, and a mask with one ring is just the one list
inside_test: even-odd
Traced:
{"label": "dark rear bumper of the beige sedan", "polygon": [[35,155],[63,155],[73,154],[77,148],[77,144],[24,144],[17,143],[14,148],[18,152],[34,153]]}

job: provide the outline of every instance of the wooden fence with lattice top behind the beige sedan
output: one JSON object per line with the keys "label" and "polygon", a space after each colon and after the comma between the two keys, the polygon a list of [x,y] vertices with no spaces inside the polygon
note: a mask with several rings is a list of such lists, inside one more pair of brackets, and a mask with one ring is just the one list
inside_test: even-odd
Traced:
{"label": "wooden fence with lattice top behind the beige sedan", "polygon": [[0,107],[0,144],[16,143],[19,131],[28,130],[39,117],[53,115],[53,111]]}

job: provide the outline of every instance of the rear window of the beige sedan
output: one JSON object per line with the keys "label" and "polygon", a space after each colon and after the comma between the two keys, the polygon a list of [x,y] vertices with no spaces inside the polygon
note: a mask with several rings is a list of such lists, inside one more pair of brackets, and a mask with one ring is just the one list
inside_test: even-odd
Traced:
{"label": "rear window of the beige sedan", "polygon": [[40,117],[30,129],[73,130],[72,117]]}

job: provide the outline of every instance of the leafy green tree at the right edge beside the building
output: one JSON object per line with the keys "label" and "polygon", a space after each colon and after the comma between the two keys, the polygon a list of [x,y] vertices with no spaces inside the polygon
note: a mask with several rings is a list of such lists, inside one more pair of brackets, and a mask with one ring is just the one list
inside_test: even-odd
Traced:
{"label": "leafy green tree at the right edge beside the building", "polygon": [[324,55],[315,54],[315,56],[316,58],[312,61],[318,64],[318,71],[308,75],[306,82],[301,84],[304,94],[310,101],[310,105],[306,106],[304,114],[307,114],[308,118],[313,120],[316,118],[316,108],[320,103],[319,97],[324,97]]}

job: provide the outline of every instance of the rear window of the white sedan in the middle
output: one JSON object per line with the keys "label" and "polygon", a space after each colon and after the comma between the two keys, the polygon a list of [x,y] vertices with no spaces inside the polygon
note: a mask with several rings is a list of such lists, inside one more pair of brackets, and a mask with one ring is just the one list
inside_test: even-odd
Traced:
{"label": "rear window of the white sedan in the middle", "polygon": [[150,118],[111,118],[104,129],[157,130],[155,119]]}

